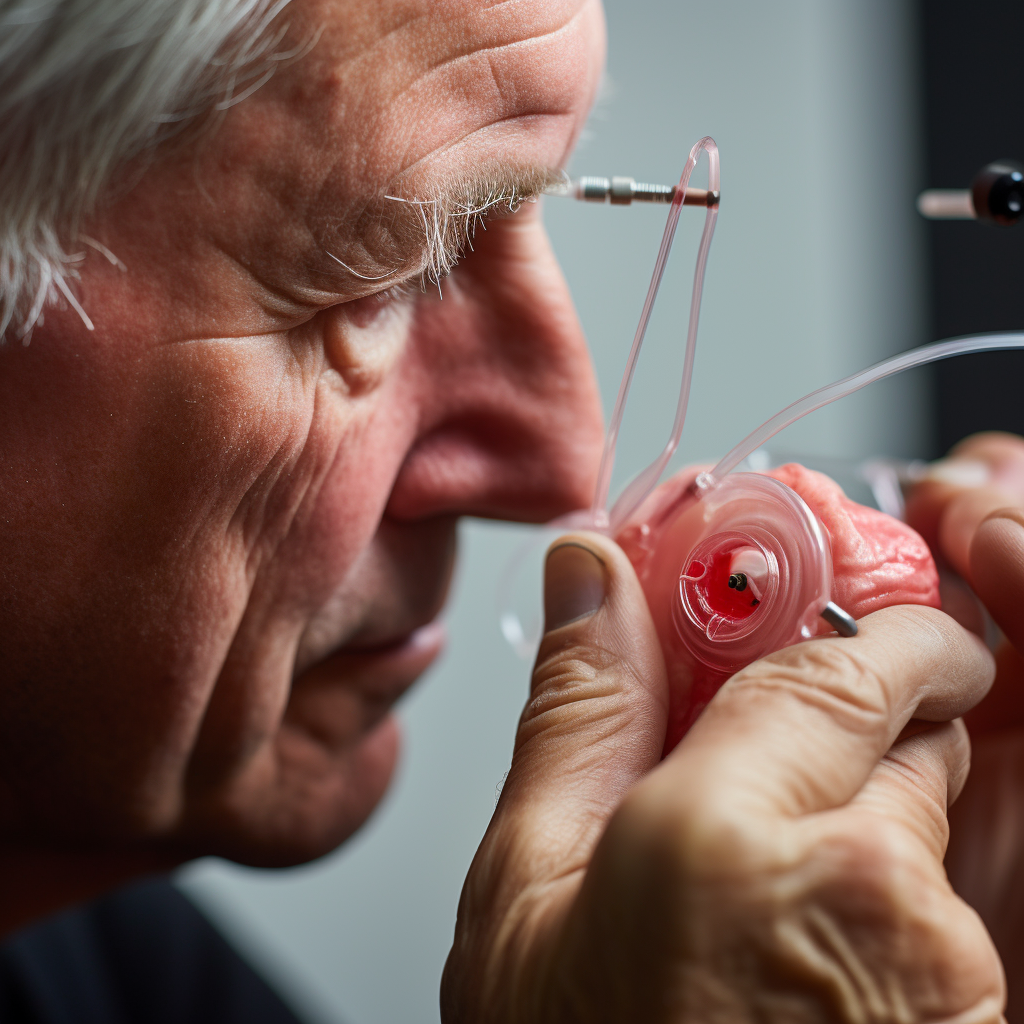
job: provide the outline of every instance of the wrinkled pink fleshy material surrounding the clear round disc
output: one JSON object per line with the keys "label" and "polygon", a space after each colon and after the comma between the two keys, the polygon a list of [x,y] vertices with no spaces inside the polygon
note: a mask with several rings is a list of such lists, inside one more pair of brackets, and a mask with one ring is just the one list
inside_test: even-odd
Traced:
{"label": "wrinkled pink fleshy material surrounding the clear round disc", "polygon": [[[682,568],[689,543],[679,545],[678,551],[675,541],[669,551],[658,547],[658,537],[673,522],[677,509],[688,507],[687,495],[697,472],[691,467],[667,480],[617,537],[640,577],[666,655],[671,693],[666,752],[685,735],[731,675],[694,663],[681,645],[673,623],[673,603],[678,600],[676,566]],[[895,604],[940,606],[935,562],[928,545],[913,529],[850,501],[840,485],[822,473],[790,464],[767,475],[792,487],[821,520],[831,546],[833,600],[854,618]],[[645,525],[649,527],[646,534]],[[830,630],[824,620],[819,621],[818,636]]]}

